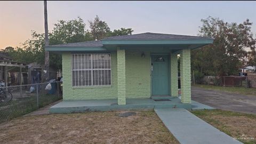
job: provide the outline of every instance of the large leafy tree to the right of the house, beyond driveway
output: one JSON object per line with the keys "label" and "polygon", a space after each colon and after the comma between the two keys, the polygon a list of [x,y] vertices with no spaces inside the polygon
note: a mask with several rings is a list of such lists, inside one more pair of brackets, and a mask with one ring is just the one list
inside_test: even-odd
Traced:
{"label": "large leafy tree to the right of the house, beyond driveway", "polygon": [[247,57],[244,48],[255,49],[252,23],[249,19],[239,24],[228,23],[212,17],[201,21],[199,35],[215,39],[213,44],[191,52],[192,70],[200,71],[201,75],[237,75]]}

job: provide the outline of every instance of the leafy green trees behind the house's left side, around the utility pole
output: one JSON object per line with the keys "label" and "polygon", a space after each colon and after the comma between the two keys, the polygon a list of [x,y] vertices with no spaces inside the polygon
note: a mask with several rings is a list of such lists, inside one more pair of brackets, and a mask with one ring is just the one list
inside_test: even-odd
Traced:
{"label": "leafy green trees behind the house's left side, around the utility pole", "polygon": [[[93,29],[86,30],[85,26],[84,21],[79,17],[73,20],[58,21],[58,23],[55,23],[53,30],[49,33],[50,45],[93,41],[107,36],[130,35],[133,31],[131,28],[121,28],[110,31],[107,23],[99,20],[98,16],[95,18],[94,22],[92,22]],[[15,61],[25,63],[38,62],[43,64],[45,53],[44,37],[44,34],[31,31],[31,38],[25,41],[22,47],[6,47],[6,49],[1,51],[9,54]],[[60,54],[50,53],[50,66],[61,69]]]}

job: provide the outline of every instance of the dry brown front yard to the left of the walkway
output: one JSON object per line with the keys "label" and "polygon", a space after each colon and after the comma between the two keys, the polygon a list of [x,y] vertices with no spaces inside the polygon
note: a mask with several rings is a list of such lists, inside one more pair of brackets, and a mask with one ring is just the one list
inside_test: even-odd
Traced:
{"label": "dry brown front yard to the left of the walkway", "polygon": [[0,125],[0,143],[179,143],[153,111],[134,112],[19,117]]}

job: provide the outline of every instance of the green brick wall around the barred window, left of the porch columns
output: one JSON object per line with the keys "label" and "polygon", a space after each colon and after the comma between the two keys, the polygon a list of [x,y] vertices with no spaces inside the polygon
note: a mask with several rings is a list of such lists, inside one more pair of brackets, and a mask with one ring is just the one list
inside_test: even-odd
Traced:
{"label": "green brick wall around the barred window, left of the porch columns", "polygon": [[117,98],[117,55],[111,52],[111,86],[79,87],[73,89],[71,79],[71,53],[62,53],[63,100]]}

